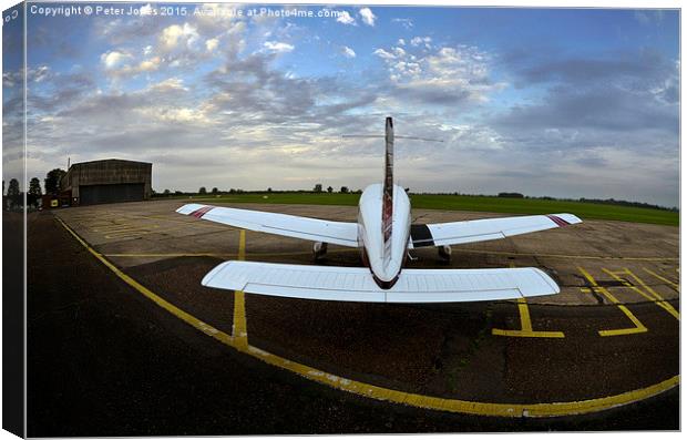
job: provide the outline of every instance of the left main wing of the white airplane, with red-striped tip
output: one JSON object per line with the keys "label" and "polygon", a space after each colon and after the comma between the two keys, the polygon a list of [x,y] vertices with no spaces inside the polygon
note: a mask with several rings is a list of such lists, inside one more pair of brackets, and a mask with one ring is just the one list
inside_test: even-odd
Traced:
{"label": "left main wing of the white airplane, with red-striped tip", "polygon": [[197,203],[184,205],[176,212],[244,229],[358,247],[357,223],[329,222],[296,215],[235,209]]}

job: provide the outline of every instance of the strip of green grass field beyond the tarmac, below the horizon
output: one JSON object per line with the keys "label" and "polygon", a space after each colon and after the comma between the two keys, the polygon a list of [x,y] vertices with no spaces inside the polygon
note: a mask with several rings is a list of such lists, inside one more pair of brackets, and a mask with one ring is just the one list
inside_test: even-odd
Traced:
{"label": "strip of green grass field beyond the tarmac, below the horizon", "polygon": [[[221,196],[193,196],[202,203],[276,203],[307,205],[358,205],[359,194],[340,193],[247,193]],[[187,198],[187,197],[185,197]],[[621,222],[679,225],[679,213],[630,206],[604,205],[583,202],[545,201],[535,198],[501,198],[471,195],[411,195],[413,208],[442,211],[478,211],[513,214],[571,213],[582,219],[599,218]]]}

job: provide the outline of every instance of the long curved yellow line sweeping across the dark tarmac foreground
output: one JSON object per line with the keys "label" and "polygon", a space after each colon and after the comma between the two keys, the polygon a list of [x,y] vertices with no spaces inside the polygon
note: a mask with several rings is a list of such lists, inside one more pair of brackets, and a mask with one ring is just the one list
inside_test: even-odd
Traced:
{"label": "long curved yellow line sweeping across the dark tarmac foreground", "polygon": [[109,269],[111,269],[117,277],[144,295],[146,298],[154,301],[160,307],[164,308],[172,315],[189,324],[204,334],[215,338],[216,340],[225,344],[228,347],[233,347],[240,352],[250,355],[257,359],[265,361],[266,364],[279,367],[281,369],[295,372],[307,379],[316,381],[318,383],[327,385],[331,388],[342,391],[352,392],[359,396],[368,397],[376,400],[389,401],[392,403],[402,403],[419,408],[427,408],[432,410],[470,413],[478,416],[501,416],[501,417],[556,417],[556,416],[571,416],[582,415],[588,412],[603,411],[606,409],[619,407],[623,405],[629,405],[647,399],[649,397],[659,395],[671,388],[679,386],[680,376],[674,376],[669,379],[663,380],[658,383],[652,385],[646,388],[637,390],[626,391],[615,396],[602,397],[597,399],[571,401],[571,402],[553,402],[553,403],[488,403],[475,402],[469,400],[459,399],[445,399],[440,397],[423,396],[411,392],[398,391],[390,388],[378,387],[370,383],[360,382],[357,380],[347,379],[340,376],[331,375],[326,371],[318,370],[316,368],[308,367],[304,364],[299,364],[250,345],[242,346],[236,344],[235,338],[232,336],[212,327],[211,325],[203,323],[195,318],[191,314],[180,309],[178,307],[166,301],[162,297],[157,296],[145,286],[141,285],[129,275],[116,268],[112,263],[93,249],[88,243],[85,243],[76,233],[74,233],[62,219],[58,218],[62,226],[69,231],[69,233],[76,238],[81,245],[83,245],[93,256],[95,256],[101,263],[103,263]]}

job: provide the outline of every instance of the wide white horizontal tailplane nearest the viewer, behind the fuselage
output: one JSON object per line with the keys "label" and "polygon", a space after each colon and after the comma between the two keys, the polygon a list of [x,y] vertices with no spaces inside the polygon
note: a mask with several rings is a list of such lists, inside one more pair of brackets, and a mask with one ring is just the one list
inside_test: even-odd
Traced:
{"label": "wide white horizontal tailplane nearest the viewer, behind the fuselage", "polygon": [[460,303],[553,295],[556,283],[533,267],[506,269],[403,269],[381,289],[365,267],[225,262],[202,284],[249,294],[365,303]]}

